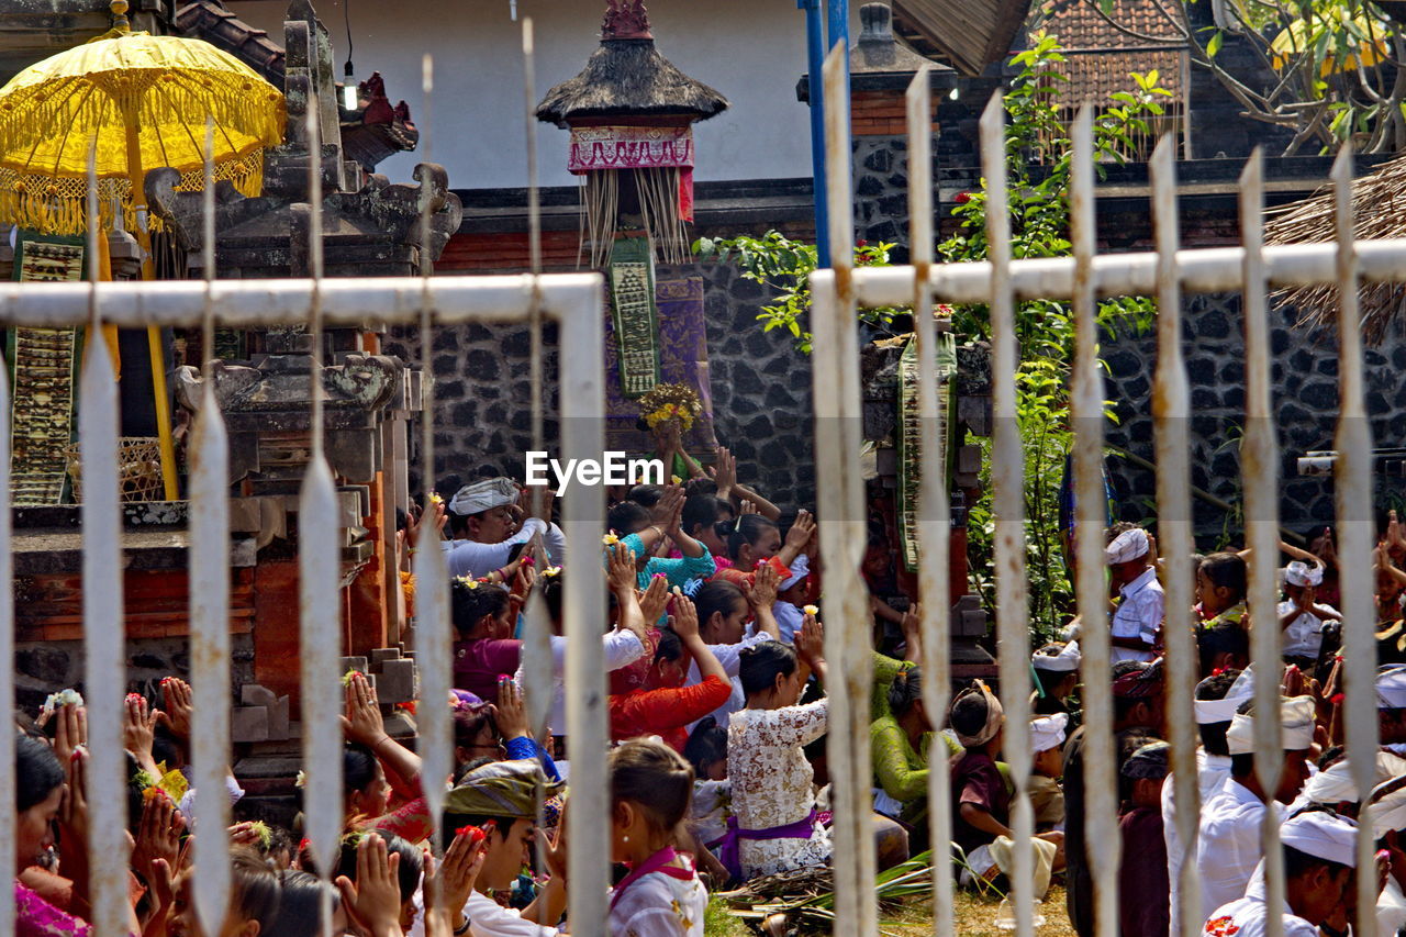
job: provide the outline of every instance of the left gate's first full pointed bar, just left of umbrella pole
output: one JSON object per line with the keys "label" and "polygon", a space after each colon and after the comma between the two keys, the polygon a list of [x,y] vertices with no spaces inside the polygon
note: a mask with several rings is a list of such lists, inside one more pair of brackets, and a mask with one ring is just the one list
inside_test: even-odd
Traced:
{"label": "left gate's first full pointed bar, just left of umbrella pole", "polygon": [[[89,231],[84,257],[97,283],[97,176],[89,162]],[[103,335],[97,291],[90,293],[86,366],[79,383],[83,473],[83,650],[89,747],[86,796],[91,924],[101,937],[128,930],[127,778],[122,754],[127,647],[122,632],[122,519],[118,506],[117,374]],[[8,664],[8,661],[6,661]],[[65,765],[66,768],[70,765]]]}

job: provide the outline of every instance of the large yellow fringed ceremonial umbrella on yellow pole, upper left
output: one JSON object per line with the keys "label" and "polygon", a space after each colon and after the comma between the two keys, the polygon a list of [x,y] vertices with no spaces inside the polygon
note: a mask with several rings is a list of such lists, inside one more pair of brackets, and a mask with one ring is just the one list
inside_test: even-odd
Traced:
{"label": "large yellow fringed ceremonial umbrella on yellow pole, upper left", "polygon": [[[0,89],[0,219],[48,234],[86,229],[89,155],[96,145],[103,225],[121,205],[145,253],[150,236],[142,190],[148,169],[204,184],[205,128],[214,122],[217,179],[246,196],[263,186],[263,149],[283,142],[283,94],[239,59],[200,39],[132,32],[127,0],[111,4],[110,32],[52,55]],[[166,409],[160,340],[149,331],[166,497],[176,497],[176,457]]]}

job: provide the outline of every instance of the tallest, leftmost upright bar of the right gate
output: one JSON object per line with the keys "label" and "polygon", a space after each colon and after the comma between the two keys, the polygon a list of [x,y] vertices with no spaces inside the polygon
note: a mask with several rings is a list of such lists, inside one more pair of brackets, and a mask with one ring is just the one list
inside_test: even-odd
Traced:
{"label": "tallest, leftmost upright bar of the right gate", "polygon": [[[817,390],[817,440],[824,432],[830,459],[817,467],[817,481],[834,492],[835,511],[821,532],[827,585],[838,598],[839,615],[830,609],[825,635],[830,664],[830,730],[827,751],[838,770],[832,775],[831,834],[835,877],[835,929],[856,937],[877,937],[879,916],[873,898],[875,841],[870,823],[872,768],[869,756],[869,695],[873,682],[866,591],[859,580],[865,544],[863,480],[856,453],[860,447],[859,343],[855,331],[853,208],[851,201],[848,49],[837,44],[825,56],[827,187],[834,196],[830,212],[837,301],[815,312],[815,348],[820,338],[828,364],[814,371]],[[821,324],[824,319],[824,324]],[[827,408],[821,409],[821,384]],[[824,518],[825,515],[821,514]]]}

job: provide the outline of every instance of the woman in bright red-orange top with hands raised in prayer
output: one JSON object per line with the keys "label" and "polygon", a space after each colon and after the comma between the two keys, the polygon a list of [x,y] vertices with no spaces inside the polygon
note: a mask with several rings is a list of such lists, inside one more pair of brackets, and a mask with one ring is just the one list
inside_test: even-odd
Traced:
{"label": "woman in bright red-orange top with hands raised in prayer", "polygon": [[[693,602],[678,595],[673,608],[673,629],[659,632],[659,646],[654,653],[654,667],[645,680],[645,688],[613,694],[607,701],[612,740],[657,734],[675,751],[683,751],[688,741],[686,726],[721,706],[733,694],[727,673],[699,636]],[[633,594],[624,601],[621,616],[643,620]],[[692,687],[683,687],[690,658],[703,678]]]}

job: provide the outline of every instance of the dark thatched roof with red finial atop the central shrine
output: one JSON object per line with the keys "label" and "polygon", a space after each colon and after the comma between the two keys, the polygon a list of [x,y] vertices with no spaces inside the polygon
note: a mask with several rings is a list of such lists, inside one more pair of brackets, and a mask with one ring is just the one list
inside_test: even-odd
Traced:
{"label": "dark thatched roof with red finial atop the central shrine", "polygon": [[610,0],[600,48],[581,75],[547,91],[537,120],[558,127],[583,118],[686,117],[707,120],[727,98],[695,82],[654,46],[644,0]]}

